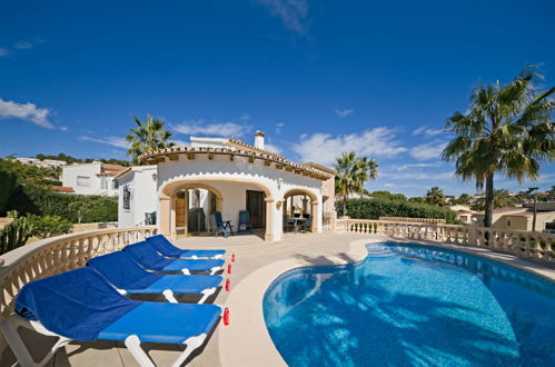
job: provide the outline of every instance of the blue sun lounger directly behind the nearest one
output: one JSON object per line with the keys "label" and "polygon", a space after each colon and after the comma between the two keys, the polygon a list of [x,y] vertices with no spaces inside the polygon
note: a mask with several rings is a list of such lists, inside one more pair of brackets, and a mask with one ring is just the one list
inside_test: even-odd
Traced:
{"label": "blue sun lounger directly behind the nearest one", "polygon": [[87,265],[100,272],[122,294],[162,294],[170,302],[177,302],[175,294],[202,294],[202,304],[214,295],[222,277],[215,275],[161,275],[148,272],[129,255],[117,251],[90,259]]}

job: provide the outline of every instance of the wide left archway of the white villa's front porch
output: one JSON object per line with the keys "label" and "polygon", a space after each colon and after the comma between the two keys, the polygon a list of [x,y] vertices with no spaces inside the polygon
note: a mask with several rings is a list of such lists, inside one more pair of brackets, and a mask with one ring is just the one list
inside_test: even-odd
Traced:
{"label": "wide left archway of the white villa's front porch", "polygon": [[[260,228],[259,234],[265,240],[281,239],[281,217],[275,212],[277,209],[274,196],[270,189],[259,181],[226,177],[176,179],[165,184],[159,192],[160,232],[172,239],[189,234],[189,214],[196,215],[197,224],[198,216],[201,217],[200,222],[202,216],[206,216],[205,222],[209,230],[205,234],[215,229],[210,218],[214,211],[220,211],[224,220],[231,220],[236,231],[239,227],[240,210],[252,211],[252,224],[256,225],[254,227]],[[199,210],[199,207],[202,207],[202,210]],[[187,210],[182,210],[184,208]],[[186,218],[181,215],[184,211],[187,214]]]}

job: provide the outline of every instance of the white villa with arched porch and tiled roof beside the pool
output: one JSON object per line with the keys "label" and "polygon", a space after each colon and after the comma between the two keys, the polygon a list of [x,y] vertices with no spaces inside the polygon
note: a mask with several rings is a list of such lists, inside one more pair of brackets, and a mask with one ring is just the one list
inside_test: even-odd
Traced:
{"label": "white villa with arched porch and tiled roof beside the pool", "polygon": [[261,131],[255,133],[254,146],[237,139],[191,137],[189,147],[155,150],[139,158],[149,166],[128,168],[116,177],[120,227],[145,225],[156,211],[160,232],[176,239],[214,231],[214,212],[220,211],[236,231],[239,211],[247,210],[252,229],[265,240],[277,241],[295,214],[308,219],[313,232],[336,218],[335,171],[265,150]]}

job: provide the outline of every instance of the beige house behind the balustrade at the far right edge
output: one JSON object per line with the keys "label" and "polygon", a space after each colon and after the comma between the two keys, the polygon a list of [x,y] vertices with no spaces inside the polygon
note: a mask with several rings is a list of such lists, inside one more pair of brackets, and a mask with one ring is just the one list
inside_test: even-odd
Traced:
{"label": "beige house behind the balustrade at the far right edge", "polygon": [[[477,211],[473,218],[478,225],[484,224],[484,211]],[[534,212],[529,208],[497,208],[494,209],[493,226],[495,228],[528,230],[531,231]],[[555,211],[542,211],[536,214],[536,231],[551,231],[555,225]]]}

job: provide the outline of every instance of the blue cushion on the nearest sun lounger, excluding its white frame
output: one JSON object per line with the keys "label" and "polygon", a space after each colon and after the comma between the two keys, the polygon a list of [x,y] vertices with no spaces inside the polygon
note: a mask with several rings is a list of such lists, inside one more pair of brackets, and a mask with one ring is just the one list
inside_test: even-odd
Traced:
{"label": "blue cushion on the nearest sun lounger, excluding its white frame", "polygon": [[31,281],[16,299],[16,311],[48,330],[80,341],[184,343],[208,334],[221,309],[215,305],[161,304],[121,296],[91,267]]}

